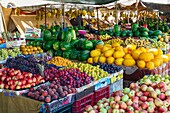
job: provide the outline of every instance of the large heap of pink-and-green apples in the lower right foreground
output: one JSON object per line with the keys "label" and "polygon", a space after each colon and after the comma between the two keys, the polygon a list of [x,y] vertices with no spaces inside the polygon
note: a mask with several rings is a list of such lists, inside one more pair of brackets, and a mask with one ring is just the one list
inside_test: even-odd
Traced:
{"label": "large heap of pink-and-green apples in the lower right foreground", "polygon": [[84,113],[169,113],[170,83],[130,84],[109,99],[88,105]]}

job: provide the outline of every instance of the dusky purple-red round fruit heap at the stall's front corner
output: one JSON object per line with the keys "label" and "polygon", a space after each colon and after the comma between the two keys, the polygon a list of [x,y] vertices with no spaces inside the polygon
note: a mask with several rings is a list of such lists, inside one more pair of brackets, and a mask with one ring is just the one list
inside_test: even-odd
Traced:
{"label": "dusky purple-red round fruit heap at the stall's front corner", "polygon": [[72,88],[70,85],[61,86],[60,84],[57,84],[55,81],[53,81],[51,84],[41,85],[37,89],[30,88],[27,96],[49,103],[72,93],[76,93],[75,88]]}

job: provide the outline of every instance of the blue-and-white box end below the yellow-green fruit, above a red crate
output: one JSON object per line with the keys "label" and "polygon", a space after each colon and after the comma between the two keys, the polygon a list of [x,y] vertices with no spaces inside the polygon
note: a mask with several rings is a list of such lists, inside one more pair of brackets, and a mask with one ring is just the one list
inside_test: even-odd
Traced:
{"label": "blue-and-white box end below the yellow-green fruit, above a red crate", "polygon": [[95,91],[97,91],[98,89],[109,85],[110,84],[110,78],[103,78],[103,79],[101,79],[99,81],[95,81],[94,84],[95,84],[94,85],[95,86]]}

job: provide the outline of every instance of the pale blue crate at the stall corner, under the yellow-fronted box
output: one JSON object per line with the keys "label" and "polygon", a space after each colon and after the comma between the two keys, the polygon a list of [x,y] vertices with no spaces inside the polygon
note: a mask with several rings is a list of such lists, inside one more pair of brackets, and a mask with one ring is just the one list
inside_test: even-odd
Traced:
{"label": "pale blue crate at the stall corner, under the yellow-fronted box", "polygon": [[123,79],[117,80],[116,82],[110,84],[110,94],[122,89],[123,89]]}

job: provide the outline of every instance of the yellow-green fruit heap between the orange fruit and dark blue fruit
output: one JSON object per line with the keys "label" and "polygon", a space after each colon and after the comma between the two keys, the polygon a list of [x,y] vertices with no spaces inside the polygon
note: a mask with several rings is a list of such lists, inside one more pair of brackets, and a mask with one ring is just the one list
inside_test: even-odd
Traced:
{"label": "yellow-green fruit heap between the orange fruit and dark blue fruit", "polygon": [[108,72],[99,68],[99,66],[92,66],[90,64],[73,63],[72,65],[69,65],[67,68],[78,68],[81,72],[85,72],[89,76],[93,77],[94,80],[99,80],[109,75]]}

